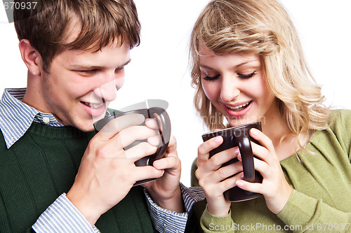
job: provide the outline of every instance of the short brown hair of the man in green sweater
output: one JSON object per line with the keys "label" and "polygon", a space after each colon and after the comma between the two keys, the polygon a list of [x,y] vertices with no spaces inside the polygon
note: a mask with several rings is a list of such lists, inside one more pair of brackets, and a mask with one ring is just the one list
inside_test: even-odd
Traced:
{"label": "short brown hair of the man in green sweater", "polygon": [[[29,2],[30,0],[18,0]],[[73,19],[79,19],[81,31],[67,42]],[[48,72],[53,58],[63,50],[94,50],[113,43],[130,48],[140,43],[140,22],[133,0],[40,0],[34,8],[13,12],[18,38],[28,39],[43,59]]]}

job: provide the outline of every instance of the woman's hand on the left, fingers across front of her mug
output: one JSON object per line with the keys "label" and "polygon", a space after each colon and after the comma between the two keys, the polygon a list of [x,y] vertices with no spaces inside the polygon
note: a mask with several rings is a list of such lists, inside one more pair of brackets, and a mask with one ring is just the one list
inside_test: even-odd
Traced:
{"label": "woman's hand on the left, fingers across front of her mug", "polygon": [[[214,216],[227,216],[231,202],[226,200],[223,192],[236,186],[239,180],[242,164],[235,162],[226,167],[220,167],[239,154],[239,149],[223,150],[209,158],[209,152],[223,143],[222,136],[216,136],[202,143],[198,148],[197,171],[195,176],[204,190],[207,200],[207,209]],[[239,174],[238,174],[239,173]],[[233,176],[234,174],[237,174]],[[232,176],[231,178],[228,178]]]}

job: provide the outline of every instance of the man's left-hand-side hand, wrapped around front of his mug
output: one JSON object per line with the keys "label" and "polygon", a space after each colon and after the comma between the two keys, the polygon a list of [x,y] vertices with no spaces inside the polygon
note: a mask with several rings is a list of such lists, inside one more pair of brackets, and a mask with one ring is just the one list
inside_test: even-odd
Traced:
{"label": "man's left-hand-side hand, wrapped around front of his mug", "polygon": [[162,169],[134,164],[155,153],[157,146],[142,142],[124,150],[135,140],[157,136],[154,129],[140,125],[144,120],[139,114],[123,115],[107,123],[89,142],[67,198],[91,225],[124,199],[135,181],[164,174]]}

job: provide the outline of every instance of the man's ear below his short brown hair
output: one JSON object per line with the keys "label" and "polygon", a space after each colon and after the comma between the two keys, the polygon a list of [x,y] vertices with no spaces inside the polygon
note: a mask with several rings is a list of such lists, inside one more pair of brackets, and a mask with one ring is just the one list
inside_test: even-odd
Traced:
{"label": "man's ear below his short brown hair", "polygon": [[23,62],[29,73],[39,76],[41,74],[42,59],[39,52],[32,47],[27,39],[22,39],[19,44]]}

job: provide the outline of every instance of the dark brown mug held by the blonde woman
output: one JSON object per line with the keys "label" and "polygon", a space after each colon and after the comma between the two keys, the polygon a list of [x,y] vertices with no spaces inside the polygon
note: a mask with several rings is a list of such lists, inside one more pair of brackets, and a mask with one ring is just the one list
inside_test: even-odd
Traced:
{"label": "dark brown mug held by the blonde woman", "polygon": [[[222,136],[223,137],[223,143],[218,146],[218,148],[215,148],[210,151],[210,157],[213,155],[216,155],[217,153],[227,150],[229,148],[234,148],[235,146],[239,146],[240,150],[240,155],[242,158],[242,164],[243,164],[243,171],[244,171],[244,180],[253,182],[253,183],[261,183],[262,182],[262,176],[258,171],[255,171],[255,167],[253,166],[253,153],[252,153],[252,148],[251,148],[251,143],[250,141],[253,141],[255,143],[258,143],[255,139],[253,139],[249,132],[251,128],[256,128],[260,131],[262,131],[261,128],[261,123],[260,122],[255,122],[249,125],[241,125],[238,127],[232,127],[228,129],[222,129],[218,130],[216,132],[210,132],[207,134],[202,135],[202,139],[204,141],[207,141],[208,139],[212,139],[215,136]],[[237,158],[234,158],[228,162],[225,162],[222,164],[221,167],[225,167],[229,164],[232,164],[234,162],[238,162],[239,160]],[[246,201],[249,199],[254,199],[256,197],[260,197],[260,193],[256,192],[249,192],[246,190],[242,190],[241,188],[235,186],[233,188],[230,188],[229,190],[226,190],[224,192],[225,199],[232,201],[232,202],[241,202],[241,201]]]}

